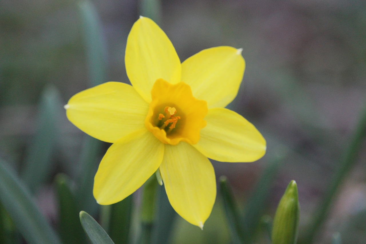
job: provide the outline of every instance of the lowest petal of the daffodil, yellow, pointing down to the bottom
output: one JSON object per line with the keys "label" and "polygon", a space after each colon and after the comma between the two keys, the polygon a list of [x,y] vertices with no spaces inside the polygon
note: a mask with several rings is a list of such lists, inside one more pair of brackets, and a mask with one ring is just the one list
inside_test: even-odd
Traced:
{"label": "lowest petal of the daffodil, yellow, pointing down to the bottom", "polygon": [[174,210],[202,228],[216,199],[215,172],[208,158],[185,142],[166,144],[160,174]]}

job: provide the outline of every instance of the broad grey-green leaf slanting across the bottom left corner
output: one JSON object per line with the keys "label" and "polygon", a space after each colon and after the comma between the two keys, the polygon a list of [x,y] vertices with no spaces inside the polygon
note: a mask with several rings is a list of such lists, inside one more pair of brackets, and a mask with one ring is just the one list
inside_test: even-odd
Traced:
{"label": "broad grey-green leaf slanting across the bottom left corner", "polygon": [[60,244],[61,241],[37,208],[23,182],[0,159],[0,201],[29,244]]}

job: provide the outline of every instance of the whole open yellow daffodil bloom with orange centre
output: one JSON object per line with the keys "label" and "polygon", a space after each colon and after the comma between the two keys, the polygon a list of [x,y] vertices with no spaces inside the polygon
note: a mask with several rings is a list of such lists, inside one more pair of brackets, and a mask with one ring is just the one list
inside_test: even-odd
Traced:
{"label": "whole open yellow daffodil bloom with orange centre", "polygon": [[151,19],[132,26],[126,45],[131,85],[107,82],[77,93],[65,106],[83,132],[113,143],[94,178],[99,204],[119,202],[160,170],[169,202],[203,227],[216,198],[209,159],[253,162],[266,141],[241,115],[224,108],[244,74],[242,49],[205,49],[182,64]]}

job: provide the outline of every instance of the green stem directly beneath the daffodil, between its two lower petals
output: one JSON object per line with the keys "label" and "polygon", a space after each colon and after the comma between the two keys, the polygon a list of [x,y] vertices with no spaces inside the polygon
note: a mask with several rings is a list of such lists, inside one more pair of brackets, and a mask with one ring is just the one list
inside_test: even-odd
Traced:
{"label": "green stem directly beneath the daffodil, between its two lower petals", "polygon": [[156,212],[157,186],[155,174],[153,174],[143,186],[141,202],[141,235],[139,242],[141,244],[151,243]]}

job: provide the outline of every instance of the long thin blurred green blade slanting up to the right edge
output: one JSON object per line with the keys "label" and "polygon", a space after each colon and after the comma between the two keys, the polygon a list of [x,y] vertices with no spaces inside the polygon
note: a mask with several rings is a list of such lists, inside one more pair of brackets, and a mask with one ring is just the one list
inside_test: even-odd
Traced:
{"label": "long thin blurred green blade slanting up to the right edge", "polygon": [[357,162],[358,153],[366,136],[366,107],[363,109],[362,113],[363,114],[359,120],[356,132],[347,151],[344,152],[344,155],[341,158],[340,165],[330,183],[328,192],[326,192],[323,202],[316,211],[314,222],[311,225],[310,230],[306,235],[306,240],[303,241],[303,243],[313,243],[315,235],[318,233],[322,223],[325,221],[330,204],[336,196],[339,186]]}

